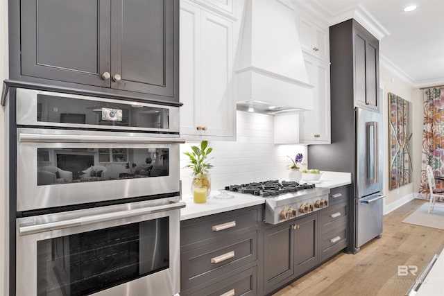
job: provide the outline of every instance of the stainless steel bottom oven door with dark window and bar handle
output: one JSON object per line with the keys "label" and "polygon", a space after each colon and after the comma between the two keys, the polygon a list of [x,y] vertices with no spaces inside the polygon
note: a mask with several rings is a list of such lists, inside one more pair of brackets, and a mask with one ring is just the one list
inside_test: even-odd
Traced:
{"label": "stainless steel bottom oven door with dark window and bar handle", "polygon": [[146,201],[17,219],[17,295],[174,295],[180,208]]}

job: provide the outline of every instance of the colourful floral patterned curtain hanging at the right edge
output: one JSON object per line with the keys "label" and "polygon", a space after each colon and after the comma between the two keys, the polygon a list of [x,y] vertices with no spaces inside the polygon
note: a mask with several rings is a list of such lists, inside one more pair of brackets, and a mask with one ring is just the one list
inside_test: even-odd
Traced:
{"label": "colourful floral patterned curtain hanging at the right edge", "polygon": [[[435,175],[444,175],[444,86],[424,89],[424,127],[422,130],[422,164],[419,193],[429,198],[425,168],[432,166]],[[438,188],[443,183],[436,182]]]}

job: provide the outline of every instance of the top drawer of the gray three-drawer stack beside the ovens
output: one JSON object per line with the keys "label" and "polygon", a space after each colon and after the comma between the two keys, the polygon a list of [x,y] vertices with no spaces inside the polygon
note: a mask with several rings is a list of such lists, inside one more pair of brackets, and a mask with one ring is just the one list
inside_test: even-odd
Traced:
{"label": "top drawer of the gray three-drawer stack beside the ovens", "polygon": [[180,223],[180,245],[212,243],[222,236],[231,236],[234,232],[248,232],[257,229],[262,219],[262,207],[254,207],[225,212],[203,218],[185,220]]}

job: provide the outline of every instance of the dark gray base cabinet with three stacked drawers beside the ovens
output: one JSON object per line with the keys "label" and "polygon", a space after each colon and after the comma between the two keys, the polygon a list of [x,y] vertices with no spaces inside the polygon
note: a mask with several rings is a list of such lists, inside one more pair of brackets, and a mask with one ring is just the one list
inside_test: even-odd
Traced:
{"label": "dark gray base cabinet with three stacked drawers beside the ovens", "polygon": [[180,295],[259,295],[263,205],[180,223]]}

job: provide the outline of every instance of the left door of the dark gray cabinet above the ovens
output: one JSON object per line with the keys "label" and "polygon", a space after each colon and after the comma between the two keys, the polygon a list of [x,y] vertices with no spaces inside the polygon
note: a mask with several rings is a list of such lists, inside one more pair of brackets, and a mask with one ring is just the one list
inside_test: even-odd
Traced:
{"label": "left door of the dark gray cabinet above the ovens", "polygon": [[22,0],[22,75],[109,87],[110,2]]}

